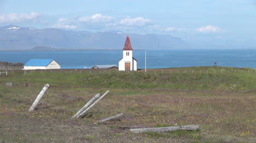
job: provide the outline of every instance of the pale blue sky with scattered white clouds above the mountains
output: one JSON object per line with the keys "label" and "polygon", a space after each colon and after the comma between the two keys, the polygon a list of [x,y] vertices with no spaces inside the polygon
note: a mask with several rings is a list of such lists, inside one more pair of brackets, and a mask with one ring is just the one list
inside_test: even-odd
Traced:
{"label": "pale blue sky with scattered white clouds above the mountains", "polygon": [[256,47],[256,0],[0,0],[0,26],[171,34],[184,41]]}

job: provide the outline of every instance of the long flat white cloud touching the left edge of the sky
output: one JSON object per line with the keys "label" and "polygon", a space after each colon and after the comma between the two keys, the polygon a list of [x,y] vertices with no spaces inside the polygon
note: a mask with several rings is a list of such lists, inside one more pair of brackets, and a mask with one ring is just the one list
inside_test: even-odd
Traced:
{"label": "long flat white cloud touching the left edge of the sky", "polygon": [[37,22],[42,19],[42,14],[29,13],[29,14],[0,14],[0,23],[17,23],[17,22]]}

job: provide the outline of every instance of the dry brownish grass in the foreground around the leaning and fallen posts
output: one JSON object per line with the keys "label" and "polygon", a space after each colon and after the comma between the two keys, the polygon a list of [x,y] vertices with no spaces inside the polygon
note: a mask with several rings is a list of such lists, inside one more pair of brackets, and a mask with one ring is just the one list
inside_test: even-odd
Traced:
{"label": "dry brownish grass in the foreground around the leaning and fallen posts", "polygon": [[[148,81],[148,75],[145,76]],[[256,141],[254,90],[181,90],[165,86],[143,89],[86,88],[72,83],[71,86],[57,84],[50,84],[37,110],[32,112],[28,109],[43,86],[24,88],[14,84],[8,88],[1,84],[0,142]],[[109,94],[82,119],[71,118],[90,98],[106,90],[110,91]],[[93,125],[95,121],[119,113],[124,114],[119,120]],[[201,131],[133,134],[118,129],[195,124],[201,125]]]}

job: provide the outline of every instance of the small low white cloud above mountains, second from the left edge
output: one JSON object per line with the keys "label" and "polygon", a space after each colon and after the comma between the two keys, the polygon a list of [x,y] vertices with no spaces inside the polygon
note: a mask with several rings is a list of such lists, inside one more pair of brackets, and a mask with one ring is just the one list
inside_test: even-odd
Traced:
{"label": "small low white cloud above mountains, second from the left edge", "polygon": [[73,23],[74,23],[74,20],[59,18],[59,20],[54,24],[53,28],[76,29],[77,26],[75,26]]}

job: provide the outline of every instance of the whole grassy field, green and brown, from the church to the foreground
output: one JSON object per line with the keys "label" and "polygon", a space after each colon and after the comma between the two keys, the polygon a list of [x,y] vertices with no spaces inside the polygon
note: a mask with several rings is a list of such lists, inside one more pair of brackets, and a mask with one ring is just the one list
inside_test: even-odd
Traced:
{"label": "whole grassy field, green and brown, from the church to the foreground", "polygon": [[[46,83],[50,88],[37,110],[28,112]],[[107,90],[83,118],[71,118]],[[254,69],[8,71],[0,76],[0,141],[255,142],[255,95]],[[119,113],[119,119],[93,124]],[[201,130],[135,134],[119,129],[176,125],[200,125]]]}

